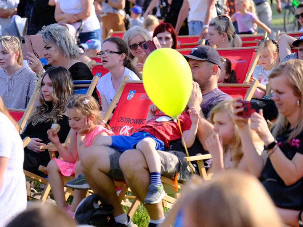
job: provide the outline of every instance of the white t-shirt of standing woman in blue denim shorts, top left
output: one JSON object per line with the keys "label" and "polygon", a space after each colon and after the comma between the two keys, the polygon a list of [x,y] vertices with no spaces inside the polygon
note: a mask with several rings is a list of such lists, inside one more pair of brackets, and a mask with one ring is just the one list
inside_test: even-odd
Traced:
{"label": "white t-shirt of standing woman in blue denim shorts, top left", "polygon": [[[81,0],[58,0],[58,2],[60,3],[60,9],[63,13],[77,14],[82,12]],[[82,33],[95,31],[100,28],[100,23],[95,12],[95,6],[92,5],[91,7],[92,14],[88,18],[82,20]]]}

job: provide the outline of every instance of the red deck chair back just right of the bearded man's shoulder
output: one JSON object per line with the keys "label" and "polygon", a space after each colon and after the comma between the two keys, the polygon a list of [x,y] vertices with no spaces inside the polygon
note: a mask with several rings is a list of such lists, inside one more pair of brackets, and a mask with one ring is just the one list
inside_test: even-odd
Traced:
{"label": "red deck chair back just right of the bearded man's shoulder", "polygon": [[241,97],[245,101],[250,101],[258,84],[259,81],[255,80],[252,84],[218,84],[218,88],[232,98]]}

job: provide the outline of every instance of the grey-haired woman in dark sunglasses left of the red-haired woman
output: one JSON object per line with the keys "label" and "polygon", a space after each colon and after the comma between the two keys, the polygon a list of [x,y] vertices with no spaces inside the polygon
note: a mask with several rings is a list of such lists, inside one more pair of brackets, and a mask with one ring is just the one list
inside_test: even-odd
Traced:
{"label": "grey-haired woman in dark sunglasses left of the red-haired woman", "polygon": [[134,57],[137,57],[139,59],[136,68],[139,72],[142,72],[143,64],[147,58],[143,43],[151,40],[149,32],[142,27],[135,26],[125,32],[123,40],[128,44],[130,58],[133,59]]}

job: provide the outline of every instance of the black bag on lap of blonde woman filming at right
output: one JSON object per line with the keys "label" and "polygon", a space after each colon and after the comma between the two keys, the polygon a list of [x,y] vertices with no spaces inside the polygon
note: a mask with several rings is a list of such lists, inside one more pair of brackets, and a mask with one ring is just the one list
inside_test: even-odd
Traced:
{"label": "black bag on lap of blonde woman filming at right", "polygon": [[291,186],[276,179],[266,179],[261,182],[275,205],[285,209],[302,210],[303,208],[303,178]]}

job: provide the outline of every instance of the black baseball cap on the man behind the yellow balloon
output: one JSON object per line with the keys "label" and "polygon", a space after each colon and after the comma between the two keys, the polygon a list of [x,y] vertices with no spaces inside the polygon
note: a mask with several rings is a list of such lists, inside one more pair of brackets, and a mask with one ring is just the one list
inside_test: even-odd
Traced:
{"label": "black baseball cap on the man behind the yellow balloon", "polygon": [[213,64],[218,65],[218,67],[221,69],[221,60],[220,56],[218,54],[218,51],[216,51],[214,48],[211,48],[209,46],[200,45],[195,48],[193,48],[189,55],[183,55],[187,60],[188,58],[198,61],[209,61]]}

